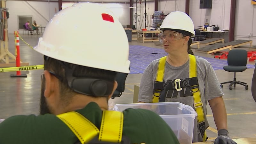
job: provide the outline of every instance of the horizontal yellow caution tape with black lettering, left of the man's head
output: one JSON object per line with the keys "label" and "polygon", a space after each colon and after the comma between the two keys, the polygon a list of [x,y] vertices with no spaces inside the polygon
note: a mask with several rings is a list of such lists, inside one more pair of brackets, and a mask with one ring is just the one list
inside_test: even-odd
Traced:
{"label": "horizontal yellow caution tape with black lettering, left of the man's head", "polygon": [[22,66],[22,67],[0,68],[0,72],[24,71],[24,70],[36,70],[36,69],[44,69],[44,65],[34,65],[34,66]]}

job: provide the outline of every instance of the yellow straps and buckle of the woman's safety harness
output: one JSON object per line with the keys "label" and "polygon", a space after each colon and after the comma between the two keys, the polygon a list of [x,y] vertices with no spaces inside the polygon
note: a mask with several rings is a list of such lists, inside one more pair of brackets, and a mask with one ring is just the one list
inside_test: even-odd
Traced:
{"label": "yellow straps and buckle of the woman's safety harness", "polygon": [[[166,57],[162,57],[158,63],[158,69],[156,74],[156,82],[163,82],[164,79],[164,68],[166,63]],[[189,78],[196,77],[196,57],[194,55],[189,54]],[[174,80],[174,87],[177,91],[182,90],[180,87],[180,79]],[[199,86],[198,85],[190,85],[190,90],[193,93],[194,98],[194,108],[197,113],[197,123],[199,125],[200,132],[203,137],[203,141],[207,140],[206,132],[205,132],[205,122],[204,122],[204,111],[203,111],[203,102],[201,100]],[[154,89],[152,102],[159,102],[161,89]]]}

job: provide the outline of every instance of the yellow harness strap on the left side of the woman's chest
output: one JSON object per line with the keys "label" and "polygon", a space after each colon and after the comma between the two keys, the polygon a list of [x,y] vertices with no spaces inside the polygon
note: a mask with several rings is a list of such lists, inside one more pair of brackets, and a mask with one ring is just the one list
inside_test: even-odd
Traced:
{"label": "yellow harness strap on the left side of the woman's chest", "polygon": [[[166,58],[167,58],[167,56],[164,56],[164,57],[160,58],[160,60],[159,60],[157,74],[156,74],[157,82],[163,82]],[[154,92],[152,102],[159,102],[160,93],[161,93],[161,90],[156,90],[156,92]]]}

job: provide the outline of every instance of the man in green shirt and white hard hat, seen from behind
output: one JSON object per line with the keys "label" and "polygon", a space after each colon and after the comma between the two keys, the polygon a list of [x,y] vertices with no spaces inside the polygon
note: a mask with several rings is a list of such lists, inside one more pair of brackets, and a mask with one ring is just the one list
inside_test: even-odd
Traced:
{"label": "man in green shirt and white hard hat, seen from behind", "polygon": [[124,28],[103,6],[61,10],[34,49],[44,55],[41,115],[4,120],[1,144],[179,143],[152,111],[108,111],[116,73],[129,73],[130,61]]}

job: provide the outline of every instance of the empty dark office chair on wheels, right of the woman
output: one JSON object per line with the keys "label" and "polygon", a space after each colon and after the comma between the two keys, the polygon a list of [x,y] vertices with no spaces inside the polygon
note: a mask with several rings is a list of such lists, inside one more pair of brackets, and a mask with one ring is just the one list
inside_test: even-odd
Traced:
{"label": "empty dark office chair on wheels, right of the woman", "polygon": [[236,72],[242,72],[245,69],[247,64],[247,51],[245,50],[230,50],[228,52],[228,66],[224,66],[223,69],[228,72],[234,72],[234,80],[229,82],[220,83],[220,87],[223,87],[222,84],[229,84],[229,89],[232,90],[232,85],[236,87],[236,84],[241,84],[245,86],[245,89],[248,90],[248,85],[244,82],[236,81]]}

